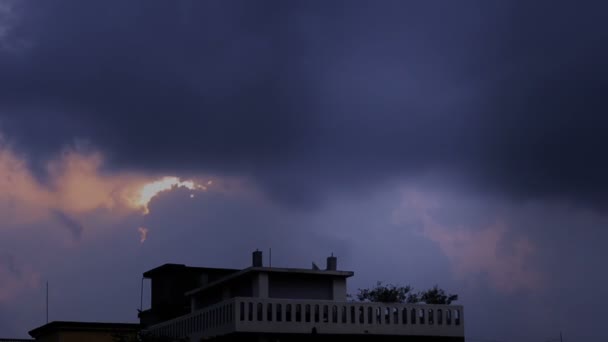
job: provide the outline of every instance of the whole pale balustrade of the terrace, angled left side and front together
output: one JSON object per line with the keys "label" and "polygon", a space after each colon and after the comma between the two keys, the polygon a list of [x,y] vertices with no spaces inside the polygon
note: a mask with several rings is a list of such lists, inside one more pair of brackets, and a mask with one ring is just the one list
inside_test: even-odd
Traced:
{"label": "whole pale balustrade of the terrace, angled left side and front together", "polygon": [[459,305],[233,298],[148,329],[171,338],[233,332],[464,336]]}

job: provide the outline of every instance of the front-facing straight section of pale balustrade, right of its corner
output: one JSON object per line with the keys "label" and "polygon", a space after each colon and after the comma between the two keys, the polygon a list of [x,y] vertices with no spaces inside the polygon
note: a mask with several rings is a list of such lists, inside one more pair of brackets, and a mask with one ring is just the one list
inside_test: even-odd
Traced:
{"label": "front-facing straight section of pale balustrade, right of its corner", "polygon": [[237,298],[236,331],[463,337],[463,307]]}

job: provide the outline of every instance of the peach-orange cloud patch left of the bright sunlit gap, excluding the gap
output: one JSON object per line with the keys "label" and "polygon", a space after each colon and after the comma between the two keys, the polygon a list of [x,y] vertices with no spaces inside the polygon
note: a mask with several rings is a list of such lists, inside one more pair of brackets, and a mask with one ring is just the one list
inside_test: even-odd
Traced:
{"label": "peach-orange cloud patch left of the bright sunlit gap, excluding the gap", "polygon": [[68,215],[97,209],[123,213],[137,209],[131,201],[146,181],[135,175],[103,175],[101,157],[66,152],[47,167],[47,182],[40,182],[25,159],[10,147],[0,146],[0,208],[8,223],[25,224],[55,217],[82,230]]}

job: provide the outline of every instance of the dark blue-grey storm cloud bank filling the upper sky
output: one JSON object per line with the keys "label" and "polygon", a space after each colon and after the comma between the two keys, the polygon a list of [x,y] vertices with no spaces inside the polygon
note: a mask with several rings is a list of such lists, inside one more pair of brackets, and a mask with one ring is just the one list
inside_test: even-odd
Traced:
{"label": "dark blue-grey storm cloud bank filling the upper sky", "polygon": [[38,159],[84,138],[116,169],[246,174],[296,205],[433,169],[601,205],[605,7],[25,3],[1,124]]}

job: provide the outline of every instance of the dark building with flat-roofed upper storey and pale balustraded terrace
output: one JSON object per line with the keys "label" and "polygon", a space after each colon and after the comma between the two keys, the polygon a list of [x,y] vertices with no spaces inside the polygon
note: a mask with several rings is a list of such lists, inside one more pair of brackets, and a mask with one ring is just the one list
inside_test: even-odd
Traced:
{"label": "dark building with flat-roofed upper storey and pale balustraded terrace", "polygon": [[[184,341],[464,341],[463,307],[347,300],[353,272],[327,258],[324,270],[215,269],[167,264],[151,279],[146,334]],[[313,265],[314,266],[314,265]],[[314,335],[314,336],[313,336]]]}

